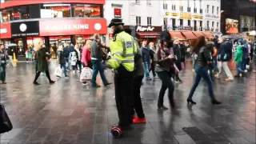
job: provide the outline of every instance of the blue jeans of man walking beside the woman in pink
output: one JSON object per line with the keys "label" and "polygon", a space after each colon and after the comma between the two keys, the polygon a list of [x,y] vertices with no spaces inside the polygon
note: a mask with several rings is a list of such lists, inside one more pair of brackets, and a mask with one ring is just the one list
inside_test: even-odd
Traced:
{"label": "blue jeans of man walking beside the woman in pink", "polygon": [[91,78],[92,85],[93,86],[96,85],[96,78],[97,78],[98,72],[99,72],[99,74],[101,74],[102,82],[104,84],[107,84],[106,77],[105,77],[105,74],[104,74],[104,69],[102,67],[101,61],[100,60],[91,60],[91,62],[93,63],[93,76]]}

